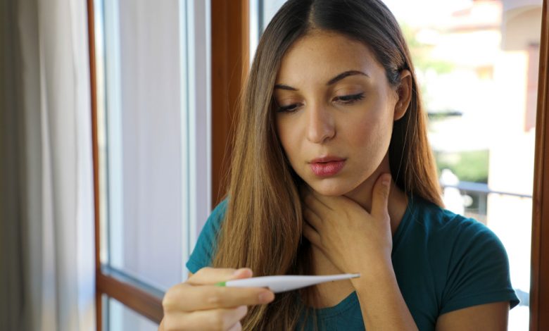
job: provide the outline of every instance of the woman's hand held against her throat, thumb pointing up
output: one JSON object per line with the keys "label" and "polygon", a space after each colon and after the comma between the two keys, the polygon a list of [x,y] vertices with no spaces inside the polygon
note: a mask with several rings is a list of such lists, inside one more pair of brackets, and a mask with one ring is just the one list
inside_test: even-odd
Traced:
{"label": "woman's hand held against her throat, thumb pointing up", "polygon": [[[387,203],[391,176],[382,174],[372,189],[372,211],[346,196],[322,196],[302,189],[303,235],[343,273],[391,265],[393,238]],[[366,275],[362,275],[366,276]]]}

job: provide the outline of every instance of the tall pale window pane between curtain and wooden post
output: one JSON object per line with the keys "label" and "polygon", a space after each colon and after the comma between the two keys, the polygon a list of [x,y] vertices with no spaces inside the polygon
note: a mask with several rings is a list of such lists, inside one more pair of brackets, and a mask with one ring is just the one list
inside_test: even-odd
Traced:
{"label": "tall pale window pane between curtain and wooden post", "polygon": [[210,211],[209,7],[94,4],[101,262],[165,290]]}

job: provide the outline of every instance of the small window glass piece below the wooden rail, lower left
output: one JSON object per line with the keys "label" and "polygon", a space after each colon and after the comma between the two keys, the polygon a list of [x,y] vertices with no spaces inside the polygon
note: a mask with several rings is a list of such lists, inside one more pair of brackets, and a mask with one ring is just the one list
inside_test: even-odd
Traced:
{"label": "small window glass piece below the wooden rail, lower left", "polygon": [[103,295],[106,314],[103,318],[103,330],[106,331],[157,331],[158,324],[139,315],[120,301]]}

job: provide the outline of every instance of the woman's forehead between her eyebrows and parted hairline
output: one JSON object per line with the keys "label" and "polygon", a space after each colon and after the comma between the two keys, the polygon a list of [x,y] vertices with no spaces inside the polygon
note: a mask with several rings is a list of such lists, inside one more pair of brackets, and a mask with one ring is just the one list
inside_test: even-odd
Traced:
{"label": "woman's forehead between her eyebrows and parted hairline", "polygon": [[360,70],[370,77],[384,75],[383,67],[362,42],[335,32],[313,30],[286,51],[277,82],[329,79],[347,70]]}

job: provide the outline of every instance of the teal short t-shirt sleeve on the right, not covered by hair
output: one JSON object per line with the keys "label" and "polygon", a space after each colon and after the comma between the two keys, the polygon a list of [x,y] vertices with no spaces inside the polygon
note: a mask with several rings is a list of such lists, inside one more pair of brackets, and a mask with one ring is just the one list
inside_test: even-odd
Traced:
{"label": "teal short t-shirt sleeve on the right, not covered by hair", "polygon": [[441,314],[479,304],[519,304],[511,286],[509,260],[500,239],[484,224],[461,219],[450,253]]}

